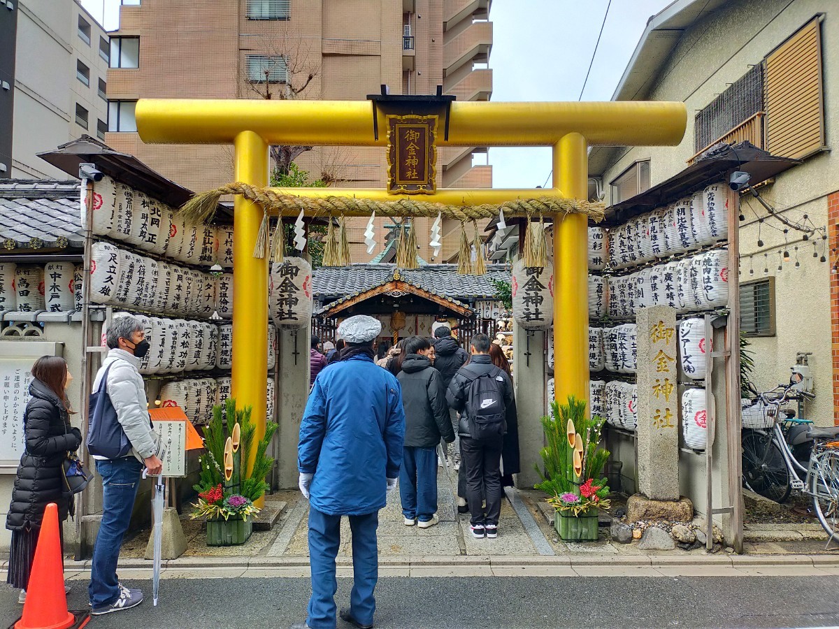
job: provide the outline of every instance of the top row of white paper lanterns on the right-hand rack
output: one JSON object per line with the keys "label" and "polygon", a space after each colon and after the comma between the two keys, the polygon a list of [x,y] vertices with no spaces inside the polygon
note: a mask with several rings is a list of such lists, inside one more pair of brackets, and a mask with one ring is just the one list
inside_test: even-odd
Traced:
{"label": "top row of white paper lanterns on the right-hand rack", "polygon": [[[728,187],[722,183],[713,184],[666,207],[612,227],[604,238],[607,266],[627,268],[649,263],[707,247],[727,237]],[[590,235],[590,263],[592,244],[597,246],[597,241],[592,242]]]}

